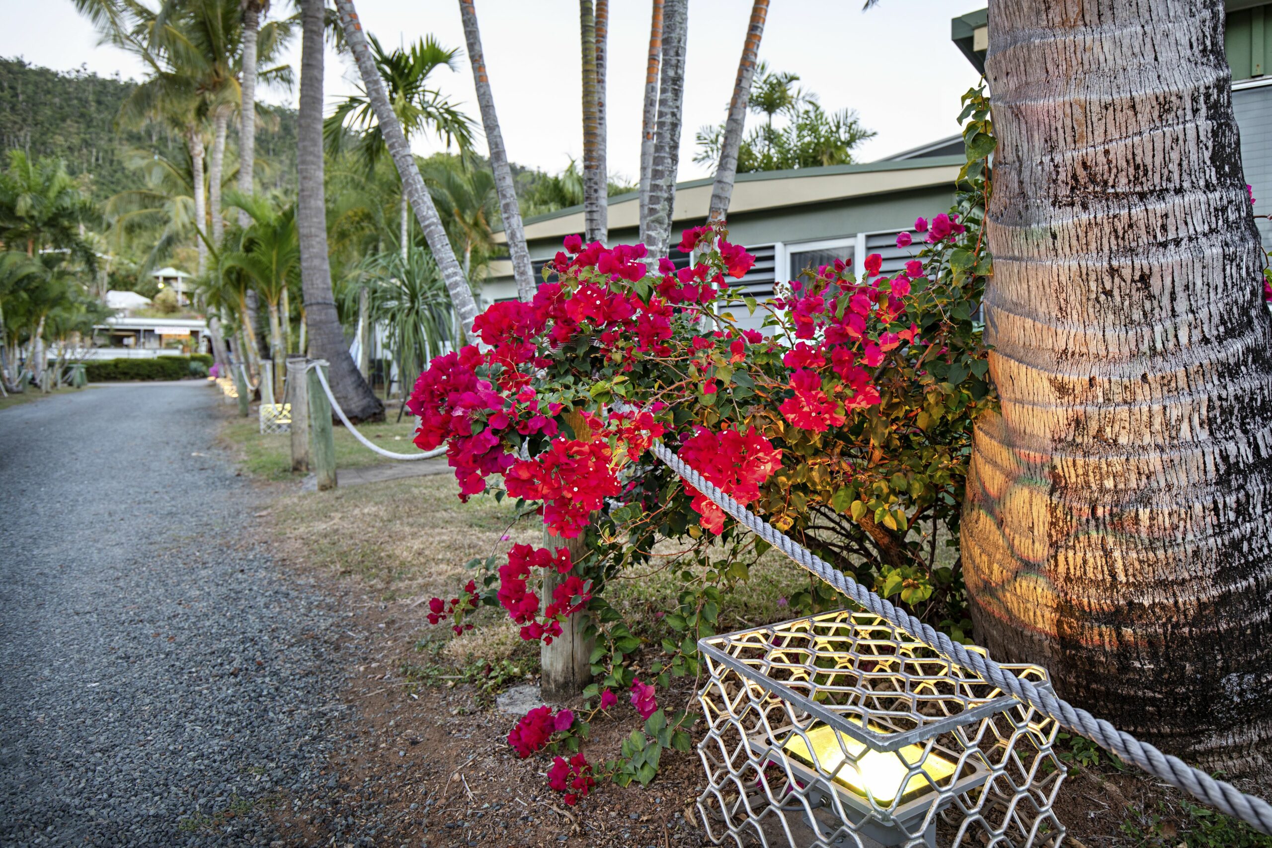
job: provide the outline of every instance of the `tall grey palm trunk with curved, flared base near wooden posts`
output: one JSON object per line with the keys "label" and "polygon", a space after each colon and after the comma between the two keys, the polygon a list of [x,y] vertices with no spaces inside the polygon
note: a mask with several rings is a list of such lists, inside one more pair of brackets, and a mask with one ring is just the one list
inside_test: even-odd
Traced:
{"label": "tall grey palm trunk with curved, flared base near wooden posts", "polygon": [[298,169],[300,195],[296,228],[300,233],[300,285],[305,301],[309,350],[331,362],[327,378],[332,394],[352,421],[383,421],[380,403],[359,374],[345,345],[331,289],[327,256],[327,201],[323,192],[323,0],[301,5],[300,113],[298,116]]}

